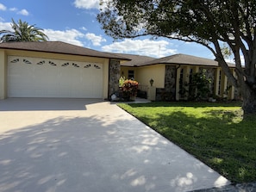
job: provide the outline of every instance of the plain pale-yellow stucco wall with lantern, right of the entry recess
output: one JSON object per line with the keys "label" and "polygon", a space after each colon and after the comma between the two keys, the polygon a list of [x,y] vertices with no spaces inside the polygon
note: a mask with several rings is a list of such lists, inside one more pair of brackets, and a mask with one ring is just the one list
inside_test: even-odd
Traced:
{"label": "plain pale-yellow stucco wall with lantern, right of the entry recess", "polygon": [[141,66],[136,71],[136,79],[140,85],[150,86],[149,80],[153,79],[153,86],[165,88],[165,65]]}

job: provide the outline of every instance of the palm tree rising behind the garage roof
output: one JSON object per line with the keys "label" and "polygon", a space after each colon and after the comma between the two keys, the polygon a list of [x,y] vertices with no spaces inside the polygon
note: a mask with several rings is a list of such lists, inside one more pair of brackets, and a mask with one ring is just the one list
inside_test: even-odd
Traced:
{"label": "palm tree rising behind the garage roof", "polygon": [[11,28],[14,31],[1,30],[0,43],[9,41],[47,41],[48,37],[44,34],[43,29],[36,28],[35,25],[28,25],[28,22],[19,20],[16,23],[13,19]]}

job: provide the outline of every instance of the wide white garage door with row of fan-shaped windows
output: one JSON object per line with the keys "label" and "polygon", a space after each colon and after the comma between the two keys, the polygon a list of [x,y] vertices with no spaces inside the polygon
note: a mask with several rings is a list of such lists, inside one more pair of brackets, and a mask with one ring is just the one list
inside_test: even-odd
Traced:
{"label": "wide white garage door with row of fan-shaped windows", "polygon": [[8,96],[102,98],[103,65],[9,56]]}

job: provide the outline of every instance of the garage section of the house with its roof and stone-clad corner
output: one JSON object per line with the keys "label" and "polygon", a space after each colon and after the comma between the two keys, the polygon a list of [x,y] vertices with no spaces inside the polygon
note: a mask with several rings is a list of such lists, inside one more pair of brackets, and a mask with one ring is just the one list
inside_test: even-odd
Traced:
{"label": "garage section of the house with its roof and stone-clad corner", "polygon": [[0,99],[109,98],[126,58],[59,41],[0,44]]}

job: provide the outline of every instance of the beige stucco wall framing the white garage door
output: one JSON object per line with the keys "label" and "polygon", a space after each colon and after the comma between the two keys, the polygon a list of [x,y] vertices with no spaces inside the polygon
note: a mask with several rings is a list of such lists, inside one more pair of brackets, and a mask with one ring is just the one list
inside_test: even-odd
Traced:
{"label": "beige stucco wall framing the white garage door", "polygon": [[103,98],[108,97],[108,82],[109,82],[109,59],[84,57],[79,55],[68,55],[60,53],[41,53],[41,52],[28,52],[19,50],[1,50],[0,49],[0,99],[7,97],[7,58],[8,56],[22,56],[34,57],[45,59],[61,59],[73,60],[79,62],[93,62],[103,64]]}

